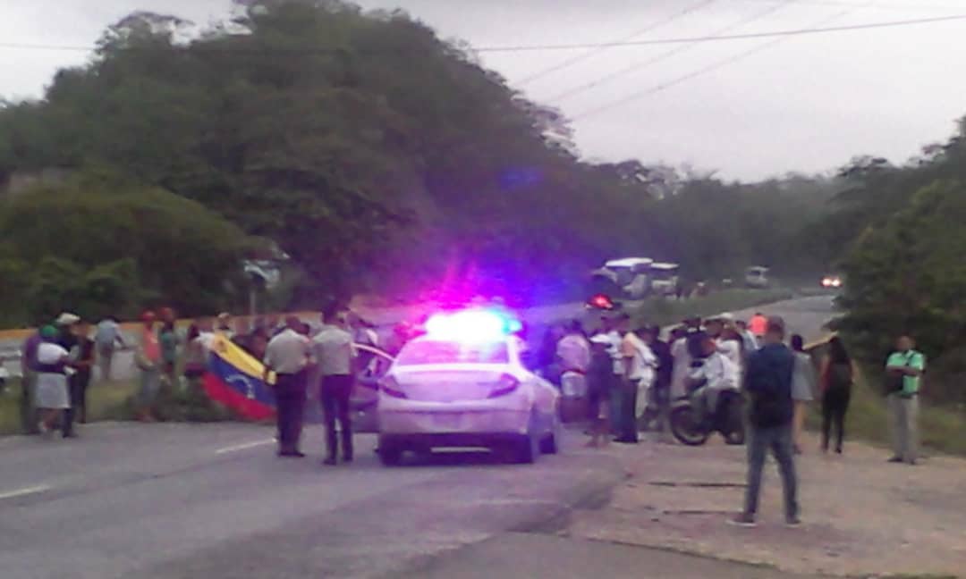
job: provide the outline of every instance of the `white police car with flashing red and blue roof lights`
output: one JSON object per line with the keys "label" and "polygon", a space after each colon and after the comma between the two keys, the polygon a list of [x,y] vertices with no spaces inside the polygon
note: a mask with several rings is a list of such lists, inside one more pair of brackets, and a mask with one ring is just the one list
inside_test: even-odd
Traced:
{"label": "white police car with flashing red and blue roof lights", "polygon": [[431,317],[380,382],[379,455],[484,447],[529,463],[560,446],[560,395],[521,362],[525,343],[500,316],[464,311]]}

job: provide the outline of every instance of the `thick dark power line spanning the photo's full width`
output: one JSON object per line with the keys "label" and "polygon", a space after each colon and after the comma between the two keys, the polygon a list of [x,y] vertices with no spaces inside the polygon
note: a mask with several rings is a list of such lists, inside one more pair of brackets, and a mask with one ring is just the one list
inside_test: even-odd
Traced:
{"label": "thick dark power line spanning the photo's full width", "polygon": [[[475,52],[536,52],[536,51],[553,51],[553,50],[582,50],[587,48],[610,48],[616,46],[650,46],[655,44],[685,44],[691,42],[709,42],[709,41],[742,41],[742,40],[752,40],[752,39],[767,39],[767,38],[779,38],[779,37],[793,37],[793,36],[807,36],[814,34],[826,34],[833,32],[847,32],[847,31],[857,31],[857,30],[872,30],[877,28],[898,28],[903,26],[915,26],[920,24],[931,24],[938,22],[952,22],[955,20],[966,20],[966,14],[952,14],[948,16],[936,16],[932,18],[909,18],[904,20],[891,20],[885,22],[869,22],[866,24],[848,24],[842,26],[822,26],[822,27],[812,27],[812,28],[797,28],[789,30],[774,30],[770,32],[755,32],[746,34],[732,34],[723,35],[717,37],[708,36],[698,36],[698,37],[678,37],[678,38],[668,38],[668,39],[657,39],[653,41],[610,41],[610,42],[582,42],[573,44],[519,44],[519,45],[508,45],[508,46],[479,46],[473,48]],[[180,47],[180,46],[179,46]],[[0,48],[17,48],[25,50],[65,50],[65,51],[85,51],[90,52],[96,49],[96,46],[80,46],[71,44],[31,44],[22,42],[0,42]],[[130,47],[125,48],[126,50],[136,50],[138,48]],[[342,52],[346,48],[210,48],[210,47],[197,47],[192,46],[192,49],[201,50],[204,52],[251,52],[251,53],[327,53],[327,52]],[[398,52],[398,48],[386,48],[384,51]]]}

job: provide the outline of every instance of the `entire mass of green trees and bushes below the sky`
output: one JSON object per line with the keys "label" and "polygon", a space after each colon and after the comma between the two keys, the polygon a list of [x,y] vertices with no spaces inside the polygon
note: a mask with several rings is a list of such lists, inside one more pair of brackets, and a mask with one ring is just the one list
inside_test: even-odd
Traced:
{"label": "entire mass of green trees and bushes below the sky", "polygon": [[[843,274],[853,353],[878,368],[912,335],[923,400],[950,413],[935,422],[966,415],[966,119],[902,164],[857,155],[823,176],[592,162],[559,110],[408,14],[234,8],[204,30],[129,14],[42,99],[0,101],[0,326],[211,315],[251,293],[279,311],[437,290],[524,306],[580,294],[609,258],[679,262],[687,285],[760,264]],[[281,290],[241,269],[267,255],[284,262]],[[728,294],[700,308],[737,309]],[[705,313],[677,308],[639,315]]]}

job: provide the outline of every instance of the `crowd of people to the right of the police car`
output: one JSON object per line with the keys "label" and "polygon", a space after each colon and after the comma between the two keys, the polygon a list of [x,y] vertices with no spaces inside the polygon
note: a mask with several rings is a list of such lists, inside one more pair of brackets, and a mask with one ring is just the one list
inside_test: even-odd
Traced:
{"label": "crowd of people to the right of the police car", "polygon": [[[555,326],[539,353],[540,372],[560,384],[565,394],[568,378],[580,376],[586,384],[591,424],[587,445],[611,440],[634,444],[639,430],[647,427],[666,439],[672,400],[687,398],[696,412],[714,413],[723,391],[741,392],[749,404],[748,484],[744,509],[731,522],[755,524],[762,468],[770,452],[781,474],[785,520],[798,525],[794,455],[803,453],[802,433],[812,400],[821,400],[821,452],[830,451],[833,428],[834,450],[844,452],[845,415],[856,366],[838,336],[830,339],[816,368],[803,337],[786,336],[780,317],[757,313],[748,322],[729,314],[692,317],[671,329],[667,342],[657,326],[641,325],[632,331],[630,324],[627,314],[607,312],[591,333],[584,333],[576,321]],[[886,364],[892,462],[917,462],[918,394],[924,368],[924,356],[913,340],[901,337]]]}

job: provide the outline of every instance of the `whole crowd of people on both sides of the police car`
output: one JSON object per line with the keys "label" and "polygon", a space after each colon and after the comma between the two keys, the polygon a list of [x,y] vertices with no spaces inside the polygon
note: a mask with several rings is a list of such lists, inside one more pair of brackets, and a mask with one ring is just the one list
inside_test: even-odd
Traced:
{"label": "whole crowd of people on both sides of the police car", "polygon": [[[120,348],[133,347],[138,372],[137,418],[156,420],[155,403],[164,387],[185,387],[207,368],[212,337],[220,334],[265,366],[277,404],[278,455],[304,456],[299,448],[306,395],[318,389],[326,425],[326,464],[353,460],[350,396],[357,376],[374,363],[366,348],[398,352],[407,340],[399,325],[380,344],[371,324],[352,312],[328,308],[320,326],[298,317],[232,320],[228,314],[194,320],[179,332],[175,313],[145,312],[132,344],[118,320],[107,317],[92,328],[89,320],[63,313],[32,333],[21,346],[23,430],[29,434],[76,436],[75,423],[87,422],[87,391],[99,369],[112,378]],[[668,332],[631,317],[606,312],[598,328],[586,332],[579,321],[554,325],[535,352],[535,366],[564,395],[583,391],[589,421],[588,446],[611,441],[634,444],[641,429],[667,440],[672,400],[692,400],[696,412],[717,411],[721,393],[742,392],[749,400],[749,481],[746,506],[737,524],[753,524],[761,468],[770,451],[785,488],[786,518],[798,520],[794,455],[801,454],[802,430],[810,401],[821,400],[821,451],[843,453],[845,417],[856,366],[838,337],[815,366],[801,336],[785,345],[781,318],[755,314],[748,322],[729,314],[690,317]],[[918,394],[925,359],[913,340],[901,337],[886,364],[885,394],[894,433],[894,462],[918,460]],[[273,379],[272,379],[273,374]],[[833,447],[834,431],[834,447]]]}

